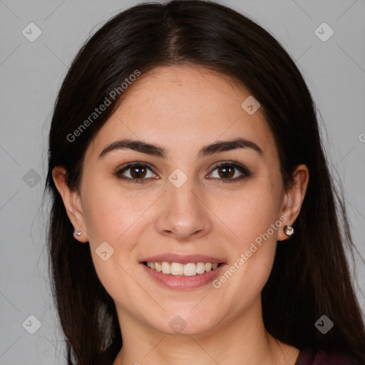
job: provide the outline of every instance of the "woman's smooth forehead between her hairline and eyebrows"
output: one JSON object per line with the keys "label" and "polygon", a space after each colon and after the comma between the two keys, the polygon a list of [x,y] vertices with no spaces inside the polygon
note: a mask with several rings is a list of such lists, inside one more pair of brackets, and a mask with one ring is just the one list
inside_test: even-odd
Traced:
{"label": "woman's smooth forehead between her hairline and eyebrows", "polygon": [[232,78],[201,66],[154,68],[128,87],[87,154],[95,158],[118,138],[146,140],[180,154],[237,136],[270,152],[274,140],[262,110],[249,114],[242,108],[249,97]]}

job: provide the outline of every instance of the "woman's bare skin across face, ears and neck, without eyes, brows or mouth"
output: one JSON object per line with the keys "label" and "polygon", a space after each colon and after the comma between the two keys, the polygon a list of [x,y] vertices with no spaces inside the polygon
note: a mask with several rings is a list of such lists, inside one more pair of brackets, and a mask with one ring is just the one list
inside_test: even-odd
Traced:
{"label": "woman's bare skin across face, ears and neck, without eyes, brows or mouth", "polygon": [[[79,190],[68,188],[64,168],[53,170],[68,217],[83,232],[76,238],[89,242],[98,277],[117,307],[123,349],[114,365],[289,365],[297,359],[298,349],[266,331],[261,312],[260,294],[277,240],[288,238],[284,225],[219,289],[212,283],[168,289],[139,264],[145,257],[173,252],[210,255],[230,266],[279,217],[286,225],[296,220],[308,169],[299,165],[295,184],[285,190],[262,110],[249,115],[241,106],[248,96],[234,81],[199,66],[155,68],[129,86],[123,103],[91,141]],[[237,148],[197,159],[203,145],[237,137],[255,142],[263,155]],[[106,145],[120,138],[162,145],[169,156],[114,150],[98,159]],[[133,161],[153,167],[143,184],[113,175]],[[224,183],[215,168],[220,161],[245,165],[252,175]],[[168,180],[176,168],[187,175],[181,187]],[[123,174],[131,178],[133,171]],[[241,174],[235,170],[234,178]],[[96,255],[104,241],[114,249],[106,261]],[[169,326],[176,315],[186,323],[180,334]]]}

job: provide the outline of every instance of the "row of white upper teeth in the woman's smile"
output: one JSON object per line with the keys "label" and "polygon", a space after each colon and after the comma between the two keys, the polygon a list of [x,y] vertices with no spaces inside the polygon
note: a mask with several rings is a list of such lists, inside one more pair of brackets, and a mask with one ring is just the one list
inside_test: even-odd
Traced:
{"label": "row of white upper teeth in the woman's smile", "polygon": [[211,262],[189,262],[188,264],[180,264],[180,262],[147,262],[150,269],[163,274],[171,274],[174,276],[185,275],[185,277],[192,277],[196,274],[204,274],[211,270],[217,269],[218,264]]}

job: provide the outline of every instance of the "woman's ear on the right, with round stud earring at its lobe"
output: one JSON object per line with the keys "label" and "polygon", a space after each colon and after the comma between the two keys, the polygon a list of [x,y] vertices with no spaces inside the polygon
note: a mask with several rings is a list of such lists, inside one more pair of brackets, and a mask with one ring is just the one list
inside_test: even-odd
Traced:
{"label": "woman's ear on the right, with round stud earring at its lobe", "polygon": [[[282,212],[287,220],[285,225],[292,225],[297,219],[309,182],[309,170],[306,165],[298,165],[293,173],[293,183],[284,193]],[[289,236],[284,230],[279,230],[278,241],[287,240]]]}

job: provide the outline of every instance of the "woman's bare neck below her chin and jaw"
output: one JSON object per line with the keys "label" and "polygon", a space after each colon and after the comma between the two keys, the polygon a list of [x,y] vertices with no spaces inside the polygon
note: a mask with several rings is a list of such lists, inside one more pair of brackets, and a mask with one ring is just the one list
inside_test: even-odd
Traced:
{"label": "woman's bare neck below her chin and jaw", "polygon": [[122,309],[118,317],[123,348],[113,365],[293,365],[299,354],[266,331],[260,300],[242,316],[203,334],[164,334]]}

